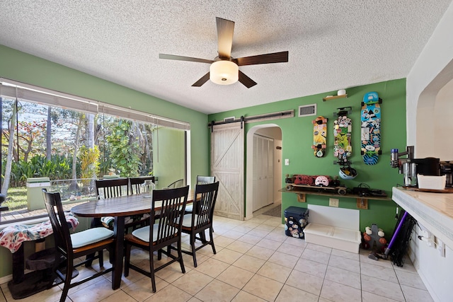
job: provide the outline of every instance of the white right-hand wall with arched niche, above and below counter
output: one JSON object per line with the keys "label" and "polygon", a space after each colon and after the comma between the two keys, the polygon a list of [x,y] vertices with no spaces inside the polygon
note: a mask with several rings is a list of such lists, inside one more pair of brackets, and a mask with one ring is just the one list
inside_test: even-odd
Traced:
{"label": "white right-hand wall with arched niche, above and below counter", "polygon": [[[450,4],[406,80],[407,145],[415,146],[417,158],[435,156],[453,160],[452,28],[453,4]],[[445,286],[445,280],[453,277],[453,247],[447,247],[444,258],[414,240],[411,260],[432,298],[451,301],[453,288]]]}

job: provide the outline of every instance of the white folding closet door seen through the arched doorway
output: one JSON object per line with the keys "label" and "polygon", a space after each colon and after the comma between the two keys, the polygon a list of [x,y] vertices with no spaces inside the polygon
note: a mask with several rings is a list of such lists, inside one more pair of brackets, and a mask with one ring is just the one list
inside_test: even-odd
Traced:
{"label": "white folding closet door seen through the arched doorway", "polygon": [[253,211],[274,202],[274,140],[253,136]]}

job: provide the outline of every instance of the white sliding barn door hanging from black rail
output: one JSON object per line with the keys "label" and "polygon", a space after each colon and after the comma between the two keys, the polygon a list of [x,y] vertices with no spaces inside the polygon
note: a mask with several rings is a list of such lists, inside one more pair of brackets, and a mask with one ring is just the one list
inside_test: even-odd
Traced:
{"label": "white sliding barn door hanging from black rail", "polygon": [[211,132],[211,175],[219,180],[214,214],[243,220],[243,129],[240,122],[220,124]]}

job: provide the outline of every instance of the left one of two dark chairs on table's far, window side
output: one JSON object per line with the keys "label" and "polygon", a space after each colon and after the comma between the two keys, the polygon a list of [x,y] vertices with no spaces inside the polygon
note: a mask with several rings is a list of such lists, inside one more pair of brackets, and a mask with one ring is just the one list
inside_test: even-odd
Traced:
{"label": "left one of two dark chairs on table's far, window side", "polygon": [[[105,180],[96,180],[96,193],[98,199],[101,198],[112,198],[120,197],[130,194],[130,182],[129,178],[113,178]],[[138,226],[144,226],[146,224],[148,216],[144,214],[132,215],[125,217],[125,232],[127,233],[128,228],[137,228]],[[110,230],[113,230],[113,222],[115,217],[104,216],[101,217],[101,224]],[[92,227],[99,226],[98,219],[93,219]]]}

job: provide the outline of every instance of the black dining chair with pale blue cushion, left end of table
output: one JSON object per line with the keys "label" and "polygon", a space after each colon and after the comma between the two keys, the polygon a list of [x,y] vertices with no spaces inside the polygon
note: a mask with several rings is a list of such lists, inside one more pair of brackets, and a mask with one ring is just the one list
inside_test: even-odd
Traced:
{"label": "black dining chair with pale blue cushion, left end of table", "polygon": [[[110,267],[108,269],[103,269],[100,272],[96,272],[91,276],[85,277],[84,279],[71,283],[74,268],[86,264],[87,261],[90,261],[91,263],[93,260],[93,258],[90,258],[89,260],[85,260],[74,265],[74,260],[79,257],[88,254],[96,254],[96,252],[98,252],[98,256],[94,257],[94,259],[97,258],[99,260],[99,266],[103,267],[103,250],[106,249],[109,251],[110,262],[113,263],[113,252],[115,250],[113,231],[100,227],[88,228],[86,231],[72,234],[69,233],[69,226],[64,217],[65,214],[60,194],[58,192],[47,192],[46,189],[42,189],[42,193],[44,195],[45,208],[49,214],[55,238],[55,262],[52,274],[56,275],[64,282],[62,296],[59,299],[60,302],[63,302],[67,298],[69,289],[113,271],[113,267]],[[62,258],[64,258],[64,262],[66,262],[66,265],[64,266],[66,272],[62,272],[60,268]]]}

